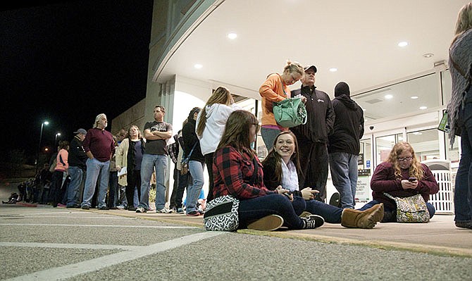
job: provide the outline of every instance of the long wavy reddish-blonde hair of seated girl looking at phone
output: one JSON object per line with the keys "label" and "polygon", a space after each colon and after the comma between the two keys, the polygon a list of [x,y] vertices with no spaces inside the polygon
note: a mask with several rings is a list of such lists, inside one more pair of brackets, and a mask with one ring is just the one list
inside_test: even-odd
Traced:
{"label": "long wavy reddish-blonde hair of seated girl looking at phone", "polygon": [[424,171],[421,163],[418,161],[415,155],[415,151],[411,144],[408,142],[398,142],[393,146],[390,154],[387,158],[387,162],[392,163],[393,169],[395,170],[395,177],[398,180],[402,179],[402,169],[400,168],[398,156],[403,153],[403,151],[410,151],[411,153],[411,166],[409,168],[408,174],[410,177],[416,177],[418,180],[423,179]]}

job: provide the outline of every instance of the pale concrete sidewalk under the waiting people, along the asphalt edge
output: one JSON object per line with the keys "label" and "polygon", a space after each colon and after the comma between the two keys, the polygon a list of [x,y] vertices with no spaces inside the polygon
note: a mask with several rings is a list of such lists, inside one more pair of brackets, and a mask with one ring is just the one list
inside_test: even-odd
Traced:
{"label": "pale concrete sidewalk under the waiting people, along the asphalt edge", "polygon": [[[1,187],[0,194],[3,195],[1,198],[5,198],[9,192],[12,192],[11,187]],[[51,208],[51,206],[47,205],[23,202],[16,204],[16,206]],[[203,227],[203,217],[201,216],[187,217],[175,213],[163,214],[154,212],[135,213],[125,210],[99,211],[97,209],[90,209],[89,211],[106,213],[112,216],[159,220],[167,223]],[[318,242],[354,244],[380,249],[399,249],[438,255],[472,257],[472,230],[455,227],[453,215],[436,215],[431,219],[430,223],[424,224],[378,223],[372,230],[350,229],[341,225],[325,223],[325,225],[316,230],[280,230],[274,232],[238,230],[238,232],[291,239],[308,239]]]}

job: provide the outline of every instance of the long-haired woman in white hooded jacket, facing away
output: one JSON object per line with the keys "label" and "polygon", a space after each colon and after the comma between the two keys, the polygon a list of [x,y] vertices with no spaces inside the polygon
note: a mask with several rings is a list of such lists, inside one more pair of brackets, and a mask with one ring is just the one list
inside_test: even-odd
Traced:
{"label": "long-haired woman in white hooded jacket, facing away", "polygon": [[213,153],[220,143],[225,130],[228,116],[237,109],[231,93],[225,87],[218,87],[210,96],[197,117],[195,132],[200,139],[201,154],[205,156],[205,164],[209,175],[209,192],[206,201],[213,199]]}

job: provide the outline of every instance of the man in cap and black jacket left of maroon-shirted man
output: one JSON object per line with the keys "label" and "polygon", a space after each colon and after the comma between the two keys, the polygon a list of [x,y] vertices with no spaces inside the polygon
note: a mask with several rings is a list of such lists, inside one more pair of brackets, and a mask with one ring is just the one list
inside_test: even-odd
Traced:
{"label": "man in cap and black jacket left of maroon-shirted man", "polygon": [[66,208],[80,208],[81,194],[84,190],[85,170],[87,166],[87,154],[85,154],[82,142],[87,135],[85,129],[80,128],[74,132],[75,137],[70,141],[69,148],[69,169],[70,183],[67,189],[67,203]]}

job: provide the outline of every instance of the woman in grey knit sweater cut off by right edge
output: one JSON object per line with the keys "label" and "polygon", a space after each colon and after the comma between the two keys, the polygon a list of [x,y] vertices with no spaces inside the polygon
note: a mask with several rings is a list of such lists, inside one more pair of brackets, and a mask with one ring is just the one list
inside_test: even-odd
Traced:
{"label": "woman in grey knit sweater cut off by right edge", "polygon": [[454,192],[455,224],[472,229],[472,2],[461,8],[449,48],[452,97],[447,104],[449,143],[461,137],[461,161]]}

